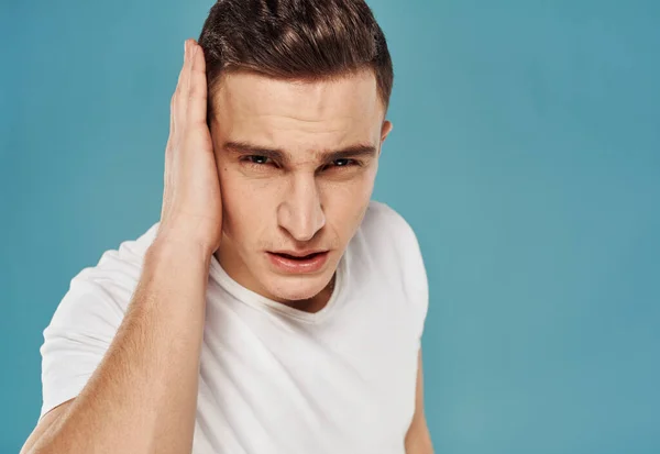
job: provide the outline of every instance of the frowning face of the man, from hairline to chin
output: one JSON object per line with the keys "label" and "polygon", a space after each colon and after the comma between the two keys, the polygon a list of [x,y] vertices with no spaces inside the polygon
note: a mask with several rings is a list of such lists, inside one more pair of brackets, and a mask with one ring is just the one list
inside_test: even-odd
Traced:
{"label": "frowning face of the man, from hairline to chin", "polygon": [[[276,301],[321,298],[362,222],[392,128],[373,71],[314,82],[231,73],[213,109],[222,267]],[[320,253],[288,256],[308,252]]]}

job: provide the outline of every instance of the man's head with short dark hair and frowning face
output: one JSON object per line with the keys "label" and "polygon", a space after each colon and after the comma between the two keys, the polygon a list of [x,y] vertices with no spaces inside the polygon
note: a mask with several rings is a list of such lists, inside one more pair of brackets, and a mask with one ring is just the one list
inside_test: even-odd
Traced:
{"label": "man's head with short dark hair and frowning face", "polygon": [[[362,0],[220,0],[199,44],[223,204],[217,256],[271,299],[324,299],[392,129],[383,32]],[[305,273],[277,265],[276,253],[308,252],[322,254]]]}

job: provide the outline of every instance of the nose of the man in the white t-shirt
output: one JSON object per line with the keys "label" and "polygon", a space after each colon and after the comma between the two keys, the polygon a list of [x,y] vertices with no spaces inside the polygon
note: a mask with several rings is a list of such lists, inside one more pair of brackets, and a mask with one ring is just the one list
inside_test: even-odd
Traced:
{"label": "nose of the man in the white t-shirt", "polygon": [[297,241],[309,241],[326,224],[314,176],[292,176],[289,190],[277,210],[279,225]]}

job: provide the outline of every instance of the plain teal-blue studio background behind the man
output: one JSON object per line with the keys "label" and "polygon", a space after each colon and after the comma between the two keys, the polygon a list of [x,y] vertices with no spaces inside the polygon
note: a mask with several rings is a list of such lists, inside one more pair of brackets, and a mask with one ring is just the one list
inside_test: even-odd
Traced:
{"label": "plain teal-blue studio background behind the man", "polygon": [[[430,281],[438,453],[660,452],[660,2],[372,0],[395,62],[374,198]],[[160,215],[169,97],[210,1],[3,1],[0,452],[42,331]]]}

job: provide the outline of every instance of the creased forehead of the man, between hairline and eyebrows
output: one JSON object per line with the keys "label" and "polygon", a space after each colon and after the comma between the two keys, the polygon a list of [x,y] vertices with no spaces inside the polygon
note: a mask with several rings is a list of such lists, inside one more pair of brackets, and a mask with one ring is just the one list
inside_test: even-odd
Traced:
{"label": "creased forehead of the man, between hairline and eyebrows", "polygon": [[288,148],[375,142],[384,117],[371,70],[317,81],[230,73],[212,101],[223,139]]}

